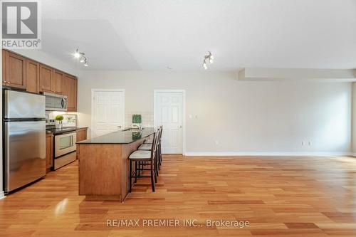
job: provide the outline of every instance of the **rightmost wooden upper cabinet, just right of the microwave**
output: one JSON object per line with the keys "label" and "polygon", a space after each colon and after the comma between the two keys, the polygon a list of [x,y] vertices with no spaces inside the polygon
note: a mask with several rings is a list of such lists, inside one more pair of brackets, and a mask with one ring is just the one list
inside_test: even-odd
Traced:
{"label": "rightmost wooden upper cabinet, just right of the microwave", "polygon": [[63,82],[63,95],[67,95],[67,111],[76,112],[77,111],[77,78],[72,75],[65,74]]}

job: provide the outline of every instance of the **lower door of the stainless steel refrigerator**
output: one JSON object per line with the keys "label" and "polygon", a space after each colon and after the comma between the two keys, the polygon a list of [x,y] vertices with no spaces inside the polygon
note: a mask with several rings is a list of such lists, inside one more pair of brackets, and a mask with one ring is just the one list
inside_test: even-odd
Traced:
{"label": "lower door of the stainless steel refrigerator", "polygon": [[46,174],[46,122],[4,122],[6,192]]}

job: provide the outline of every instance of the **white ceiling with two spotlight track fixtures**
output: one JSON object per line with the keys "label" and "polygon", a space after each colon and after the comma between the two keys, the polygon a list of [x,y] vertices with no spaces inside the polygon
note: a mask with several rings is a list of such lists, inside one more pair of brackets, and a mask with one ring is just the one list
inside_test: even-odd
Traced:
{"label": "white ceiling with two spotlight track fixtures", "polygon": [[356,68],[356,0],[41,2],[43,51],[85,70]]}

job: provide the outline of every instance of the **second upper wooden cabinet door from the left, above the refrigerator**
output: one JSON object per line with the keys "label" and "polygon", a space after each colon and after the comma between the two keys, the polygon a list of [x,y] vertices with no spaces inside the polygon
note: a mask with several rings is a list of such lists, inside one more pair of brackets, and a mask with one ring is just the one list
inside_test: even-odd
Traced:
{"label": "second upper wooden cabinet door from the left, above the refrigerator", "polygon": [[40,64],[33,60],[26,60],[26,90],[39,93]]}

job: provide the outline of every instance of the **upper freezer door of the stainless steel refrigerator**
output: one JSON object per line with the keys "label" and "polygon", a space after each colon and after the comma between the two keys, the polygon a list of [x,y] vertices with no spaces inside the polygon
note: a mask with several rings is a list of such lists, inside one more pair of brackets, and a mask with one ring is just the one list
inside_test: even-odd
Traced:
{"label": "upper freezer door of the stainless steel refrigerator", "polygon": [[4,90],[5,119],[45,118],[45,105],[43,95]]}

